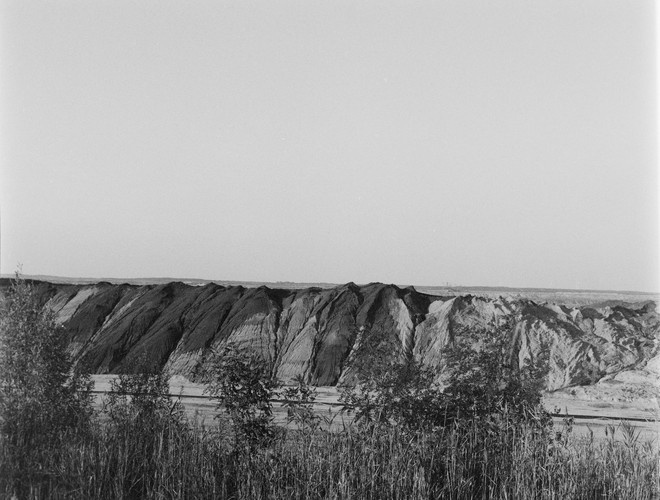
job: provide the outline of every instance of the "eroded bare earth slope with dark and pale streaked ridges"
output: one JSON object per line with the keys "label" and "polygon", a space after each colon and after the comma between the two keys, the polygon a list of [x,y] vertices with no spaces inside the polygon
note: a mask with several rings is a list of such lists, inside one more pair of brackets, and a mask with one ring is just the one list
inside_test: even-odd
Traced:
{"label": "eroded bare earth slope with dark and pale streaked ridges", "polygon": [[640,397],[659,395],[660,315],[652,301],[567,307],[519,297],[440,297],[380,283],[35,286],[57,312],[71,353],[93,373],[131,372],[147,362],[194,380],[212,348],[236,342],[258,352],[285,382],[303,375],[331,386],[351,381],[356,343],[368,332],[394,346],[392,356],[412,355],[440,369],[455,335],[510,318],[513,363],[549,349],[547,390],[633,384]]}

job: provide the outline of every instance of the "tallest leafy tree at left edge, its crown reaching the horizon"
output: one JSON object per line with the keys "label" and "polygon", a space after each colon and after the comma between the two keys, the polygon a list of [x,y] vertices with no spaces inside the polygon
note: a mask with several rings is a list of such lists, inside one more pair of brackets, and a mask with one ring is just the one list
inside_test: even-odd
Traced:
{"label": "tallest leafy tree at left edge, its crown reaching the horizon", "polygon": [[86,425],[89,375],[74,373],[64,329],[16,274],[0,318],[0,429],[26,446]]}

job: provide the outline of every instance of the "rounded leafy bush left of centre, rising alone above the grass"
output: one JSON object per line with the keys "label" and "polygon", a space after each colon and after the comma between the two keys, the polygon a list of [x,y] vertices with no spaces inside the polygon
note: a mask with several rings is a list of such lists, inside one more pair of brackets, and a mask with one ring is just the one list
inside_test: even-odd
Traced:
{"label": "rounded leafy bush left of centre, rising alone above the grass", "polygon": [[252,351],[227,344],[213,353],[206,377],[207,393],[231,418],[237,443],[250,448],[267,444],[274,436],[271,400],[280,384],[266,362]]}

